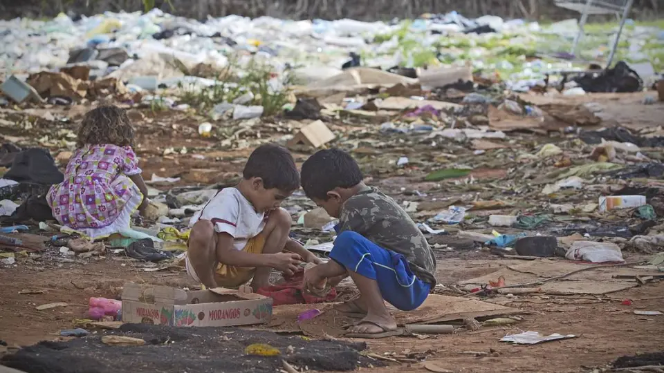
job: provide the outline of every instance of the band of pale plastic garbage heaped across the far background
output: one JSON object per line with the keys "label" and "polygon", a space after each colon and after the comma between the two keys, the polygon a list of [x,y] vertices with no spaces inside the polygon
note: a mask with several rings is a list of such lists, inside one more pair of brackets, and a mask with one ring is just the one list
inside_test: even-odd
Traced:
{"label": "band of pale plastic garbage heaped across the far background", "polygon": [[[89,90],[94,97],[100,88],[89,81],[98,80],[105,82],[104,88],[113,86],[120,93],[124,92],[121,84],[126,84],[129,93],[210,87],[228,77],[229,67],[232,75],[248,74],[248,65],[255,59],[273,73],[272,90],[291,83],[286,81],[287,72],[292,73],[293,82],[306,85],[358,66],[409,77],[425,74],[415,69],[470,66],[486,77],[498,75],[512,90],[552,83],[548,73],[553,70],[588,68],[549,57],[551,52],[566,50],[578,30],[575,20],[542,26],[492,16],[471,20],[451,12],[393,23],[238,16],[200,22],[154,9],[145,14],[107,12],[77,21],[61,14],[48,21],[13,19],[0,25],[6,30],[0,35],[5,46],[0,52],[0,72],[5,79],[15,75],[21,82],[29,74],[48,75],[39,79],[38,87],[28,80],[44,99],[82,99]],[[606,27],[613,31],[612,26]],[[624,57],[649,86],[664,67],[661,32],[636,25],[627,28],[623,38],[629,48],[619,50],[618,57]],[[601,65],[611,38],[588,36],[582,42],[593,47],[582,45],[580,50],[592,55],[580,57]],[[636,91],[640,86],[629,89]],[[26,90],[5,86],[3,93],[15,100],[37,99]]]}

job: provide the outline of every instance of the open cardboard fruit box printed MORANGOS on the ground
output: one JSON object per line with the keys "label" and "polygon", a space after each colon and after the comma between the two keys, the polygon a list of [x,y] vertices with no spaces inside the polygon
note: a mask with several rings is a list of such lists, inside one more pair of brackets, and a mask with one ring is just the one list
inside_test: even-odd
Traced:
{"label": "open cardboard fruit box printed MORANGOS on the ground", "polygon": [[122,291],[122,321],[186,327],[267,323],[272,298],[231,289],[184,291],[127,283]]}

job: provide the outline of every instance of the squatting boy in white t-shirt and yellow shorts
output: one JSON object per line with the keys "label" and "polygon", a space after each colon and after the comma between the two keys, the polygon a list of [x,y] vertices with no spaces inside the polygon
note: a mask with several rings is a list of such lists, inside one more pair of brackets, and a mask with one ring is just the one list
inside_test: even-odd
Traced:
{"label": "squatting boy in white t-shirt and yellow shorts", "polygon": [[297,271],[302,260],[320,262],[291,240],[291,215],[279,206],[299,188],[299,173],[287,149],[259,146],[244,166],[243,178],[233,188],[219,191],[192,217],[187,273],[205,287],[243,287],[269,284],[274,268]]}

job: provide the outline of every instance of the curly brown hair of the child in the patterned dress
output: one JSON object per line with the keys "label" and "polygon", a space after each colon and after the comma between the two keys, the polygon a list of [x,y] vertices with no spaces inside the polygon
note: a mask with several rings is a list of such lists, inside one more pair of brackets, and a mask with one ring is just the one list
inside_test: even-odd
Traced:
{"label": "curly brown hair of the child in the patterned dress", "polygon": [[82,148],[85,144],[133,146],[135,135],[127,111],[113,105],[99,106],[83,117],[78,128],[76,146],[78,148]]}

